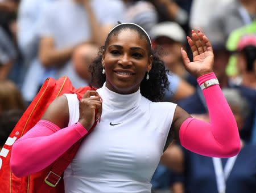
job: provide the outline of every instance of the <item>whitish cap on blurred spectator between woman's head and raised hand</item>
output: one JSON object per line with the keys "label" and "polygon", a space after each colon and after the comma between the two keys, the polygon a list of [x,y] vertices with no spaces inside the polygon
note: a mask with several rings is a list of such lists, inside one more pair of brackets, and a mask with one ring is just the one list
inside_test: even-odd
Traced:
{"label": "whitish cap on blurred spectator between woman's head and raised hand", "polygon": [[181,43],[185,43],[186,41],[185,31],[175,22],[162,22],[156,24],[152,27],[150,36],[153,40],[164,36]]}

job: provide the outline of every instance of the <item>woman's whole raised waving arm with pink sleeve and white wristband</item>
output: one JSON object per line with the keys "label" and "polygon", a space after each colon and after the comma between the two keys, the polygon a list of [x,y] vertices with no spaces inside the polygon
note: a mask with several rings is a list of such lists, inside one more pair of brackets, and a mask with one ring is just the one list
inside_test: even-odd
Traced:
{"label": "woman's whole raised waving arm with pink sleeve and white wristband", "polygon": [[216,84],[213,73],[214,55],[208,38],[192,31],[188,44],[193,53],[190,62],[187,53],[181,49],[186,70],[195,75],[199,85],[205,85],[210,79],[215,83],[203,89],[207,102],[210,122],[192,118],[185,110],[177,106],[172,128],[177,140],[189,151],[210,157],[232,157],[240,151],[240,136],[236,119],[228,102]]}

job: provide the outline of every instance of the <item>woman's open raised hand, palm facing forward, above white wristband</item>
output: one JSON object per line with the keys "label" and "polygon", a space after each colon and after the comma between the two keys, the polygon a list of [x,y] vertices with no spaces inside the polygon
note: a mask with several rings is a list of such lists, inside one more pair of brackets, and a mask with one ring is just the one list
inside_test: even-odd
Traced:
{"label": "woman's open raised hand, palm facing forward, above white wristband", "polygon": [[196,33],[192,30],[192,38],[187,37],[187,40],[193,53],[193,62],[189,60],[187,53],[181,48],[186,70],[196,78],[213,72],[214,55],[208,38],[202,32]]}

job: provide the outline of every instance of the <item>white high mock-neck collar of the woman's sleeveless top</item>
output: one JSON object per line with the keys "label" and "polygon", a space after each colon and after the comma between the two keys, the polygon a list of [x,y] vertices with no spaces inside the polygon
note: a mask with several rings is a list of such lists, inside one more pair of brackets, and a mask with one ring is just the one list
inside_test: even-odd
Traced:
{"label": "white high mock-neck collar of the woman's sleeveless top", "polygon": [[138,106],[139,101],[141,100],[141,92],[140,89],[138,91],[128,94],[122,95],[113,91],[110,91],[106,87],[106,83],[100,88],[102,91],[102,100],[103,105],[108,109],[133,109]]}

